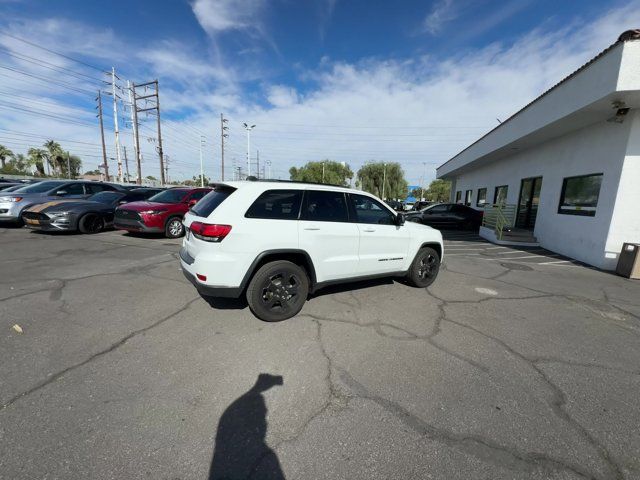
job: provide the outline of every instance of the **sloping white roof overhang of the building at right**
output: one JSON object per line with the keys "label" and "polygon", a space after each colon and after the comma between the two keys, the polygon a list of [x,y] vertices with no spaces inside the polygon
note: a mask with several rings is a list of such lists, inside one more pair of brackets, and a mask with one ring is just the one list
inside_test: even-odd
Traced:
{"label": "sloping white roof overhang of the building at right", "polygon": [[640,108],[640,31],[618,41],[437,168],[438,178],[513,155],[611,119],[617,105]]}

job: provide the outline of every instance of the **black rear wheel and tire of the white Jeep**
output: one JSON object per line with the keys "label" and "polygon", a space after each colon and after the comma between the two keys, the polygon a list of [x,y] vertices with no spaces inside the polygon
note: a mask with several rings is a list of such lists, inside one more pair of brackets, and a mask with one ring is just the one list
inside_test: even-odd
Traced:
{"label": "black rear wheel and tire of the white Jeep", "polygon": [[258,269],[247,288],[247,303],[265,322],[280,322],[296,316],[307,301],[307,272],[286,260],[269,262]]}

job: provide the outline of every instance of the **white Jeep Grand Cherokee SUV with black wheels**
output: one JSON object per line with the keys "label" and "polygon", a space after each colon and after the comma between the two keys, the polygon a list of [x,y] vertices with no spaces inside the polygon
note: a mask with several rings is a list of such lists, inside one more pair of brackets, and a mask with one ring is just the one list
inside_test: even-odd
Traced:
{"label": "white Jeep Grand Cherokee SUV with black wheels", "polygon": [[185,276],[204,296],[246,294],[260,319],[296,315],[309,293],[333,283],[406,277],[433,283],[442,235],[405,223],[378,198],[330,185],[225,182],[184,217]]}

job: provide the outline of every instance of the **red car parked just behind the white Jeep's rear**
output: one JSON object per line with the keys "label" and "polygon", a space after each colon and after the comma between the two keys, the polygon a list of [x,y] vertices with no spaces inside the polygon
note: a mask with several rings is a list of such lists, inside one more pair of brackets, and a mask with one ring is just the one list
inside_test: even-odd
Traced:
{"label": "red car parked just behind the white Jeep's rear", "polygon": [[161,233],[168,238],[184,235],[182,217],[211,188],[177,187],[157,193],[144,202],[132,202],[116,209],[113,226],[129,232]]}

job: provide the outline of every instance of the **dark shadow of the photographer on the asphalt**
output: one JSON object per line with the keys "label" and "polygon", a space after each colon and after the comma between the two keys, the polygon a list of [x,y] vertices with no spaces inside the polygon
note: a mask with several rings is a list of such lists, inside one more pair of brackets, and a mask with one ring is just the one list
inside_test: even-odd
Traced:
{"label": "dark shadow of the photographer on the asphalt", "polygon": [[253,387],[227,407],[218,423],[209,480],[284,480],[276,453],[265,443],[267,406],[262,395],[282,383],[280,375],[261,373]]}

